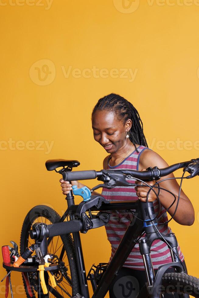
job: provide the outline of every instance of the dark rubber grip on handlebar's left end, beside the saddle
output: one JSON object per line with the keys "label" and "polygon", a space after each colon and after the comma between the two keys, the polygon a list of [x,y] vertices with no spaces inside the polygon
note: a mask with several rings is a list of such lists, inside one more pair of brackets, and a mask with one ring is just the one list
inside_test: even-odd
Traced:
{"label": "dark rubber grip on handlebar's left end, beside the saddle", "polygon": [[87,179],[95,179],[97,177],[97,172],[94,170],[63,172],[62,176],[65,181],[87,180]]}

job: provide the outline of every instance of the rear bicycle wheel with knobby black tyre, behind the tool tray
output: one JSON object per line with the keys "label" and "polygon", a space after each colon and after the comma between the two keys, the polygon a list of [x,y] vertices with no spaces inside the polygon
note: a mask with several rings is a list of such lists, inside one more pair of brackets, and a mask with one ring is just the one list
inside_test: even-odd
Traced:
{"label": "rear bicycle wheel with knobby black tyre, behind the tool tray", "polygon": [[[60,222],[61,217],[52,208],[45,205],[38,205],[33,207],[25,217],[23,222],[21,238],[20,238],[20,253],[27,247],[34,243],[30,238],[30,230],[34,223],[43,222],[45,224],[55,224]],[[56,288],[52,288],[50,283],[49,287],[51,293],[50,297],[72,297],[80,292],[78,269],[75,257],[75,248],[73,239],[70,234],[52,237],[48,241],[48,253],[54,255],[53,262],[58,264],[59,269],[54,272],[56,281]],[[28,273],[26,281],[30,284],[27,285],[23,275],[23,283],[28,298],[38,297],[37,295],[37,275]],[[29,287],[29,291],[27,290]],[[30,293],[30,291],[32,293]],[[33,295],[33,296],[32,296]]]}

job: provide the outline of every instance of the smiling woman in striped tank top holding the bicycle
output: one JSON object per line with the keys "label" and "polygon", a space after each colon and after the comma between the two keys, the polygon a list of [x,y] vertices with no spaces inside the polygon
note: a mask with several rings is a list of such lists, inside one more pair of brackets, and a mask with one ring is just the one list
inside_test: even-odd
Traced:
{"label": "smiling woman in striped tank top holding the bicycle", "polygon": [[[143,124],[134,106],[126,99],[117,94],[109,94],[97,102],[92,113],[92,127],[94,139],[106,150],[108,156],[103,161],[104,169],[137,169],[143,171],[148,167],[158,166],[165,168],[168,166],[166,161],[148,148],[145,135],[143,133]],[[173,174],[165,178],[174,177]],[[64,195],[71,189],[72,185],[77,185],[78,188],[84,186],[79,181],[68,181],[60,179],[61,188]],[[117,186],[113,189],[103,188],[102,195],[109,201],[121,200],[137,200],[145,202],[149,187],[139,186],[141,182],[136,181],[136,187]],[[153,185],[155,182],[149,182]],[[176,179],[161,182],[161,187],[169,189],[178,196],[179,185]],[[93,192],[93,194],[98,194]],[[173,196],[166,191],[161,190],[159,193],[161,202],[161,213],[171,205]],[[154,204],[155,212],[158,212],[158,202],[154,192],[149,193],[148,201]],[[176,203],[169,209],[169,214],[172,216],[176,208]],[[112,214],[110,221],[106,224],[106,233],[110,241],[113,257],[121,238],[123,237],[127,226],[132,218],[131,213],[116,211]],[[168,220],[165,213],[159,220],[165,223]],[[192,225],[194,223],[194,208],[181,190],[179,205],[174,216],[174,220],[182,225]],[[171,232],[168,224],[159,225],[159,231],[168,234]],[[143,236],[144,238],[144,236]],[[184,262],[184,256],[178,246],[180,259]],[[160,265],[172,262],[170,251],[167,245],[156,240],[151,247],[151,257],[155,273]],[[172,272],[173,269],[168,269],[167,272]],[[111,298],[136,297],[139,289],[145,284],[146,275],[144,264],[139,252],[139,245],[136,244],[131,254],[127,258],[124,266],[120,270],[114,284],[110,288]],[[175,297],[178,297],[175,294]],[[164,297],[173,297],[170,294],[164,294]]]}

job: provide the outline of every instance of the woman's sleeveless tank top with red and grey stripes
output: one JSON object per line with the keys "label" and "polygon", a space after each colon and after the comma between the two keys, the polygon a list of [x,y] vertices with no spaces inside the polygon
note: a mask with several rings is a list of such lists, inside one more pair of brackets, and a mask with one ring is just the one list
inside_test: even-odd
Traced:
{"label": "woman's sleeveless tank top with red and grey stripes", "polygon": [[[145,146],[139,146],[138,152],[135,150],[131,153],[127,158],[125,158],[119,165],[110,166],[108,159],[107,169],[132,169],[138,171],[139,159],[140,155],[144,150],[151,150]],[[126,179],[128,182],[134,182],[135,179]],[[102,196],[108,201],[134,201],[138,200],[138,196],[136,195],[135,187],[130,186],[115,186],[112,189],[102,189]],[[159,205],[157,199],[153,201],[155,214],[158,214]],[[165,212],[165,208],[161,205],[160,215]],[[160,216],[159,215],[159,216]],[[127,212],[125,210],[116,210],[111,213],[110,220],[106,224],[106,234],[107,238],[111,244],[111,256],[110,260],[112,259],[128,225],[130,224],[131,219],[133,218],[133,214],[131,212]],[[165,213],[158,222],[166,222],[168,220],[167,213]],[[168,224],[165,225],[158,225],[158,230],[163,234],[171,233],[170,227]],[[141,237],[144,239],[145,234]],[[178,251],[180,255],[180,259],[183,261],[184,256],[180,251],[180,247],[178,245]],[[172,262],[170,250],[167,247],[166,243],[161,240],[155,240],[151,246],[151,258],[154,269],[158,269],[160,265],[164,265],[166,263]],[[110,262],[109,260],[109,262]],[[139,244],[137,243],[133,250],[131,251],[130,255],[128,256],[126,262],[124,263],[124,267],[128,267],[131,269],[136,270],[144,270],[144,264],[142,260],[142,256],[139,251]]]}

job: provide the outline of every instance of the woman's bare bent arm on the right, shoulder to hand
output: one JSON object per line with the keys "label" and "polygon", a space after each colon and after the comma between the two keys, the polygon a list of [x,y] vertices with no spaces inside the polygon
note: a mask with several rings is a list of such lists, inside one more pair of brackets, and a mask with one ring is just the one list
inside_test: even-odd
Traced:
{"label": "woman's bare bent arm on the right, shoulder to hand", "polygon": [[[168,164],[166,161],[156,152],[151,151],[151,150],[145,150],[141,156],[140,156],[140,162],[139,162],[139,168],[138,170],[141,171],[143,169],[146,169],[148,167],[155,167],[157,166],[158,168],[166,168],[168,167]],[[173,173],[170,175],[167,175],[165,177],[162,177],[160,180],[165,179],[165,178],[173,178],[174,175]],[[157,180],[157,181],[160,181]],[[175,208],[176,208],[176,203],[177,203],[177,198],[178,198],[178,193],[179,193],[179,184],[177,183],[176,179],[171,179],[171,180],[166,180],[161,182],[160,187],[168,189],[170,192],[173,192],[173,194],[176,196],[176,202],[173,204],[173,206],[168,210],[169,214],[172,216]],[[135,187],[137,196],[143,198],[146,198],[146,194],[148,192],[149,187]],[[156,196],[153,191],[150,192],[150,197],[151,200],[155,199]],[[171,203],[174,200],[174,197],[169,193],[164,190],[160,190],[159,193],[159,199],[162,204],[162,206],[167,209]],[[179,204],[178,208],[176,211],[175,216],[173,219],[182,225],[187,225],[190,226],[194,223],[195,220],[195,215],[194,215],[194,208],[192,203],[190,202],[190,199],[186,196],[186,194],[183,192],[181,189],[180,192],[180,199],[179,199]]]}

